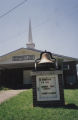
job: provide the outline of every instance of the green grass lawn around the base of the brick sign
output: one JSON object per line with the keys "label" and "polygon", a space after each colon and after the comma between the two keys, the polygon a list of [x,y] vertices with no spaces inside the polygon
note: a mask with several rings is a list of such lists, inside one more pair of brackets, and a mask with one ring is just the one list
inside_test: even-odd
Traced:
{"label": "green grass lawn around the base of the brick sign", "polygon": [[78,120],[78,90],[65,90],[65,102],[70,107],[33,107],[32,90],[24,91],[0,105],[0,120]]}

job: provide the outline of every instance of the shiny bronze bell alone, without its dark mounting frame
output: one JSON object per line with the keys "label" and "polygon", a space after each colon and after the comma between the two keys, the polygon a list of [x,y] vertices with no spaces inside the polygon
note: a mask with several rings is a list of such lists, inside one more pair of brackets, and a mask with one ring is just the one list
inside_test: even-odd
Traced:
{"label": "shiny bronze bell alone, without its dark mounting frame", "polygon": [[44,52],[41,54],[41,59],[38,64],[43,64],[43,63],[54,63],[54,61],[51,59],[49,53]]}

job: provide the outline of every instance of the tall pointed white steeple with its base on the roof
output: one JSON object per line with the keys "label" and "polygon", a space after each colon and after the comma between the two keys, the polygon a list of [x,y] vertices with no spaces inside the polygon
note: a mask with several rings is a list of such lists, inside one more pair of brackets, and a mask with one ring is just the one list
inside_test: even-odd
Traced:
{"label": "tall pointed white steeple with its base on the roof", "polygon": [[28,33],[28,43],[26,44],[27,48],[35,48],[35,44],[32,39],[32,29],[31,29],[31,20],[29,20],[29,33]]}

